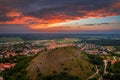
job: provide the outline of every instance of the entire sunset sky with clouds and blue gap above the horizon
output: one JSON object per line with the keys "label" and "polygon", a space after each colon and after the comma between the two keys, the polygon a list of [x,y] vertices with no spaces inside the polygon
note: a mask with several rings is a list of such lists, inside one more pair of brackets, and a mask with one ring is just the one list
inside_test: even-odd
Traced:
{"label": "entire sunset sky with clouds and blue gap above the horizon", "polygon": [[120,0],[0,0],[0,33],[120,33]]}

